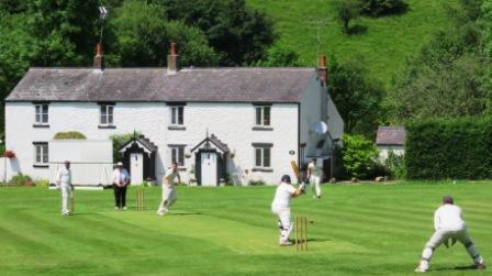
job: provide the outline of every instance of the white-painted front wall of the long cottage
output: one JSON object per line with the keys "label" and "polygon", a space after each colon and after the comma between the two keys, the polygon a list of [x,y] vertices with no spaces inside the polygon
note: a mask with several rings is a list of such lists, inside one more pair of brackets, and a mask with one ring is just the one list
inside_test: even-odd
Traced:
{"label": "white-painted front wall of the long cottage", "polygon": [[[254,173],[247,178],[268,184],[279,181],[281,175],[293,173],[290,159],[297,159],[298,104],[276,103],[271,107],[272,131],[253,131],[255,108],[250,103],[193,103],[185,107],[185,131],[168,130],[170,107],[163,102],[116,102],[114,125],[116,129],[98,129],[99,106],[94,102],[51,102],[49,128],[33,128],[34,106],[31,102],[7,102],[7,148],[16,154],[18,172],[34,178],[49,179],[49,168],[34,168],[33,142],[48,142],[57,132],[78,131],[87,139],[104,140],[112,134],[138,131],[158,146],[156,156],[157,179],[164,176],[170,163],[169,144],[185,144],[186,153],[205,139],[206,131],[215,134],[235,153],[227,164],[230,174],[244,175],[254,168],[251,143],[272,143],[271,173]],[[295,154],[289,155],[289,151]],[[185,159],[191,168],[194,155]],[[188,173],[181,172],[187,181]]]}

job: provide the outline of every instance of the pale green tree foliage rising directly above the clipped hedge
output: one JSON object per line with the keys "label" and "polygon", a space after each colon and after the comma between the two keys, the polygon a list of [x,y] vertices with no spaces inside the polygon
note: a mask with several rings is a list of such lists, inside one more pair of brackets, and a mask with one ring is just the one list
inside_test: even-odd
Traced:
{"label": "pale green tree foliage rising directly above the clipped hedge", "polygon": [[461,0],[450,9],[456,23],[425,45],[405,71],[396,77],[390,96],[393,119],[456,118],[485,111],[484,68],[480,25],[480,1]]}

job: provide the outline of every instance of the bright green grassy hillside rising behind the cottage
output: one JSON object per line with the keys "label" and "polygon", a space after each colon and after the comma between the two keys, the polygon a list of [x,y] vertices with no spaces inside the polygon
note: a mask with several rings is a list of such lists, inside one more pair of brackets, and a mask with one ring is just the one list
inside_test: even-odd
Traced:
{"label": "bright green grassy hillside rising behind the cottage", "polygon": [[304,65],[316,65],[316,26],[321,30],[321,53],[338,60],[364,58],[370,76],[389,85],[401,69],[406,56],[420,47],[436,31],[447,25],[443,3],[457,0],[406,0],[410,10],[403,15],[380,19],[361,18],[355,23],[367,26],[365,34],[347,36],[327,0],[247,0],[247,3],[273,19],[281,41],[292,45]]}

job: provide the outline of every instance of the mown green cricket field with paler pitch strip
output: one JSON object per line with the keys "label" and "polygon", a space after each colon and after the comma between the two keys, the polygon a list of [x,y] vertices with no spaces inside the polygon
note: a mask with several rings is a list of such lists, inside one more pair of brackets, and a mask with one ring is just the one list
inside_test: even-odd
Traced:
{"label": "mown green cricket field with paler pitch strip", "polygon": [[[59,214],[59,192],[0,188],[0,275],[415,275],[433,213],[445,194],[465,211],[470,233],[492,260],[492,183],[323,186],[295,199],[309,224],[309,251],[277,245],[273,187],[179,187],[158,217],[159,188],[147,211],[114,211],[111,190],[76,191],[76,214]],[[463,247],[439,247],[429,275],[490,275]]]}

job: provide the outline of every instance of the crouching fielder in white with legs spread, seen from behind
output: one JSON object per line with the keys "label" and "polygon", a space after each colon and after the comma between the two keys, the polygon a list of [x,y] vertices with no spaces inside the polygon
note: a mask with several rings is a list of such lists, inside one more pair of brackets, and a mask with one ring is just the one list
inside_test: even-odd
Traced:
{"label": "crouching fielder in white with legs spread, seen from behind", "polygon": [[434,251],[440,245],[445,244],[448,247],[448,241],[455,243],[457,240],[465,245],[468,254],[474,262],[479,269],[485,268],[482,256],[473,244],[468,234],[467,225],[461,217],[461,208],[454,205],[450,196],[443,198],[443,206],[440,206],[434,213],[434,228],[436,232],[431,236],[431,240],[425,244],[422,252],[422,260],[415,272],[424,273],[428,271],[431,257]]}

